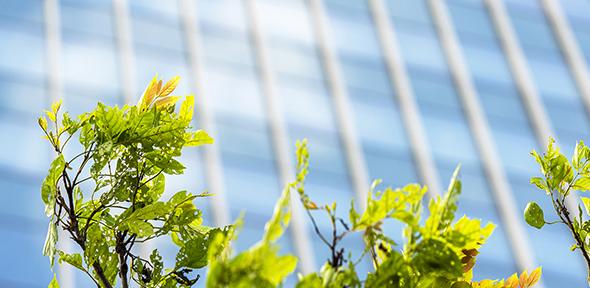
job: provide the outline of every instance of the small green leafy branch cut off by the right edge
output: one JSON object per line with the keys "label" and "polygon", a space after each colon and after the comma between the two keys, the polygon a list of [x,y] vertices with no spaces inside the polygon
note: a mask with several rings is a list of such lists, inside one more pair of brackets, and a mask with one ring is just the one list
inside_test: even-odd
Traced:
{"label": "small green leafy branch cut off by the right edge", "polygon": [[[561,223],[570,231],[575,244],[571,250],[579,250],[590,273],[590,220],[585,220],[582,207],[578,204],[578,211],[570,211],[566,205],[567,201],[574,200],[576,191],[585,192],[590,190],[590,148],[584,145],[583,141],[577,143],[571,161],[563,155],[555,145],[553,139],[549,139],[547,152],[540,155],[532,151],[531,155],[539,164],[542,177],[531,178],[531,183],[543,190],[551,199],[555,215],[559,218],[554,222],[547,222],[543,209],[535,203],[530,202],[524,210],[526,222],[541,229],[545,224]],[[577,197],[576,197],[577,198]],[[580,197],[586,216],[590,215],[590,198]],[[576,201],[576,200],[574,200]],[[589,283],[590,283],[590,277]]]}

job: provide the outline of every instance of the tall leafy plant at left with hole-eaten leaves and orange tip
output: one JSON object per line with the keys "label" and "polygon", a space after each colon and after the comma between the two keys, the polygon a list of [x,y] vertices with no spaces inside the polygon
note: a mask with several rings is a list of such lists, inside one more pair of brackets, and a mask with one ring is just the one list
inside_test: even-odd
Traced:
{"label": "tall leafy plant at left with hole-eaten leaves and orange tip", "polygon": [[[43,253],[53,267],[57,257],[86,273],[98,287],[190,287],[194,269],[207,265],[208,244],[230,228],[201,225],[197,197],[179,191],[164,200],[166,176],[182,174],[182,149],[213,143],[205,131],[191,131],[194,98],[171,96],[179,78],[163,84],[154,78],[135,106],[109,107],[72,118],[60,113],[61,101],[39,118],[56,157],[41,187],[51,219]],[[71,139],[79,145],[70,148]],[[75,151],[75,152],[74,152]],[[68,157],[69,155],[72,155]],[[58,231],[80,253],[57,249]],[[180,249],[165,269],[157,250],[149,259],[133,249],[170,235]],[[57,287],[52,280],[50,287]]]}

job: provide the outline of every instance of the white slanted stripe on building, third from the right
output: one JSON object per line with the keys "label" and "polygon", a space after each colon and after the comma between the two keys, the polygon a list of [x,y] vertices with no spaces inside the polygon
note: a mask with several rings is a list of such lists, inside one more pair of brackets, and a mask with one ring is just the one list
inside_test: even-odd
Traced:
{"label": "white slanted stripe on building, third from the right", "polygon": [[439,32],[451,74],[459,89],[463,110],[481,155],[483,167],[500,212],[500,219],[506,228],[512,252],[521,269],[534,269],[536,265],[533,260],[531,246],[528,243],[528,238],[522,237],[526,232],[521,224],[522,221],[520,221],[521,216],[517,212],[516,201],[508,184],[506,172],[500,163],[500,156],[494,146],[494,139],[489,124],[485,119],[485,113],[479,103],[477,91],[467,70],[465,59],[463,59],[463,51],[453,31],[453,24],[448,15],[447,7],[439,0],[429,0],[428,3],[430,4],[430,10]]}

